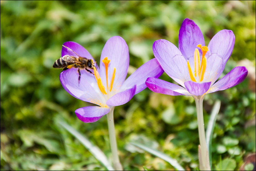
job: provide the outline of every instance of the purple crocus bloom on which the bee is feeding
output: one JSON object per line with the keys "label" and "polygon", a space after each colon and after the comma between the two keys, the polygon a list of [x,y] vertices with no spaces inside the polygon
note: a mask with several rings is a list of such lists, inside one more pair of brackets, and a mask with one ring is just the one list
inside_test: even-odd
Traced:
{"label": "purple crocus bloom on which the bee is feeding", "polygon": [[[75,51],[79,56],[93,59],[90,53],[75,42],[65,42],[63,45]],[[61,56],[72,55],[67,48],[62,48]],[[146,88],[148,77],[158,78],[164,72],[154,58],[138,68],[126,80],[129,66],[129,50],[122,37],[111,37],[105,44],[100,57],[100,67],[94,75],[86,70],[80,70],[81,79],[78,83],[78,72],[71,68],[60,73],[60,82],[63,88],[73,97],[82,101],[97,104],[75,111],[77,117],[85,122],[98,121],[109,113],[110,108],[122,105]]]}

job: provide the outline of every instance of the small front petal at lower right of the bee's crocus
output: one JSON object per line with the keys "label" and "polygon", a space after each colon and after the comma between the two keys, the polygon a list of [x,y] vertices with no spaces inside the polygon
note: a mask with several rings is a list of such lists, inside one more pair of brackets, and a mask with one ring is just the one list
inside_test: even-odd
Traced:
{"label": "small front petal at lower right of the bee's crocus", "polygon": [[106,101],[106,104],[110,106],[119,106],[119,105],[125,104],[132,99],[135,92],[136,92],[136,84],[130,89],[116,93],[111,98],[109,98],[109,100]]}

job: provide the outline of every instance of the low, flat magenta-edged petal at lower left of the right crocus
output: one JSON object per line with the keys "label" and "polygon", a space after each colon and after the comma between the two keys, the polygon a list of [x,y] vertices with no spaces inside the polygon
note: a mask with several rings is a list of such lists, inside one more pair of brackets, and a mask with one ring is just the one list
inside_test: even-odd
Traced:
{"label": "low, flat magenta-edged petal at lower left of the right crocus", "polygon": [[146,85],[151,91],[156,93],[167,95],[191,95],[185,88],[158,78],[148,78]]}

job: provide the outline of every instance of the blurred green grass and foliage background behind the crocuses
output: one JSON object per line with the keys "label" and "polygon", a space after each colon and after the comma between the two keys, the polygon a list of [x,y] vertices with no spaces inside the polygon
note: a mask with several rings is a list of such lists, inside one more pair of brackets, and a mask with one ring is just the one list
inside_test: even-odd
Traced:
{"label": "blurred green grass and foliage background behind the crocuses", "polygon": [[[222,29],[234,32],[234,50],[221,77],[236,66],[249,71],[238,86],[204,100],[205,127],[214,102],[221,100],[213,168],[239,170],[246,156],[255,154],[255,1],[1,1],[1,170],[104,170],[57,124],[66,121],[111,157],[106,116],[95,123],[81,122],[74,111],[90,104],[69,95],[59,81],[61,69],[52,68],[61,57],[61,45],[78,42],[99,62],[105,42],[121,36],[130,51],[130,75],[154,57],[155,40],[178,46],[185,18],[200,27],[206,45]],[[161,79],[174,82],[165,73]],[[198,167],[192,97],[146,88],[117,106],[114,117],[124,169],[174,169],[130,141],[166,153],[186,170]]]}

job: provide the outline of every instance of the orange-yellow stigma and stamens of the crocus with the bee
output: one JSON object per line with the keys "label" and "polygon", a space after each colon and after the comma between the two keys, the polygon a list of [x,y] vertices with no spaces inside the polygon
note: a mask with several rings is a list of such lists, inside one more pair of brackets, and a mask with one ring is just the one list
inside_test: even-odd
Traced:
{"label": "orange-yellow stigma and stamens of the crocus with the bee", "polygon": [[114,78],[115,78],[115,67],[114,67],[114,71],[112,73],[110,86],[108,86],[108,66],[109,66],[110,60],[108,59],[108,57],[105,57],[104,59],[102,59],[102,62],[104,63],[105,70],[106,70],[106,86],[107,86],[107,89],[105,89],[105,87],[103,86],[102,81],[101,81],[101,77],[100,77],[100,75],[99,75],[99,73],[98,73],[98,71],[96,70],[95,67],[93,67],[93,71],[94,71],[94,76],[95,76],[95,79],[97,80],[97,84],[98,84],[98,87],[99,87],[100,91],[102,92],[102,94],[108,94],[108,92],[111,92],[112,87],[113,87],[113,82],[114,82]]}

